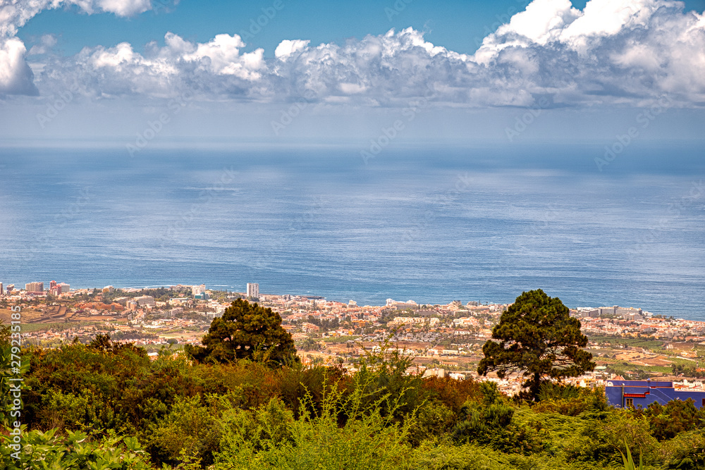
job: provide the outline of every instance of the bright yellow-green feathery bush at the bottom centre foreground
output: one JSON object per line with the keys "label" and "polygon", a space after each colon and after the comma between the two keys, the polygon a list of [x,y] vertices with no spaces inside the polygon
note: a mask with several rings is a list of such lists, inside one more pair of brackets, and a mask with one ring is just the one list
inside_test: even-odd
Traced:
{"label": "bright yellow-green feathery bush at the bottom centre foreground", "polygon": [[[279,400],[250,412],[234,411],[223,424],[214,469],[408,468],[405,441],[411,420],[393,421],[400,402],[391,395],[367,404],[371,384],[357,379],[349,395],[337,384],[326,387],[319,413],[309,411],[312,397],[307,395],[300,419]],[[341,414],[347,416],[344,426],[338,426]]]}

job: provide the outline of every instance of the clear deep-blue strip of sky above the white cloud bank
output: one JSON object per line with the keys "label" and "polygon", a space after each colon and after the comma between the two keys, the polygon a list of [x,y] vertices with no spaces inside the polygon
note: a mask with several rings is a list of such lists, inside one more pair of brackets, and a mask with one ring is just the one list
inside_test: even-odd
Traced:
{"label": "clear deep-blue strip of sky above the white cloud bank", "polygon": [[[32,44],[46,34],[59,38],[58,46],[65,54],[76,54],[83,47],[113,46],[130,42],[136,49],[150,41],[164,42],[166,32],[196,42],[206,42],[222,32],[240,32],[250,27],[250,20],[262,15],[262,8],[271,8],[273,1],[181,0],[173,6],[171,0],[157,0],[154,11],[121,18],[118,16],[86,15],[77,7],[39,13],[25,25],[18,36]],[[310,39],[312,44],[344,42],[350,37],[380,35],[391,27],[398,30],[413,27],[427,31],[426,38],[465,54],[472,54],[488,34],[507,19],[525,8],[527,0],[498,1],[394,1],[282,0],[284,7],[275,18],[254,35],[245,50],[264,48],[273,56],[282,39]],[[584,8],[586,1],[572,1]],[[702,13],[705,0],[685,1],[687,11]]]}

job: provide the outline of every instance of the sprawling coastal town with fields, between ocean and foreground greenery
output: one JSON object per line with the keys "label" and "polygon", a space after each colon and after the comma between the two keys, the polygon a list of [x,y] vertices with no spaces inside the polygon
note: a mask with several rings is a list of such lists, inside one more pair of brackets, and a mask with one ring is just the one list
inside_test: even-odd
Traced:
{"label": "sprawling coastal town with fields, between ocean and foreground greenery", "polygon": [[[491,338],[508,304],[455,300],[449,304],[419,304],[387,299],[384,305],[335,302],[314,295],[261,294],[259,285],[243,292],[207,289],[205,285],[159,288],[72,290],[66,283],[28,283],[23,289],[0,283],[0,320],[22,312],[23,344],[57,347],[78,340],[89,342],[108,334],[118,342],[133,342],[156,357],[200,344],[211,321],[223,315],[235,299],[269,307],[282,318],[282,327],[295,340],[304,364],[340,365],[354,370],[364,354],[395,353],[410,362],[409,373],[426,376],[477,378],[482,345]],[[15,310],[13,310],[13,308]],[[608,381],[673,381],[680,388],[702,390],[705,366],[705,322],[651,314],[632,307],[570,309],[588,336],[587,349],[597,366],[570,383],[584,387]],[[520,378],[499,380],[501,390],[514,394]]]}

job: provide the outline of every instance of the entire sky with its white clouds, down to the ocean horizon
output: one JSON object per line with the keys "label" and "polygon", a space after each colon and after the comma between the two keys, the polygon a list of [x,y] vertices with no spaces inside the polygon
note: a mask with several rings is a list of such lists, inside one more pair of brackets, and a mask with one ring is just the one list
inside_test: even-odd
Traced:
{"label": "entire sky with its white clouds, down to the ocean horizon", "polygon": [[49,4],[0,6],[5,139],[701,135],[705,1]]}

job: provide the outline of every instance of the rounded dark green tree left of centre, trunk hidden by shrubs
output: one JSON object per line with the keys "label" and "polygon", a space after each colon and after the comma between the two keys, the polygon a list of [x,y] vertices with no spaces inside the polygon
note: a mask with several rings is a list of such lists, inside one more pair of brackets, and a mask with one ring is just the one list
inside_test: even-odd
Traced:
{"label": "rounded dark green tree left of centre, trunk hidden by shrubs", "polygon": [[281,316],[243,299],[212,321],[202,343],[204,347],[187,345],[185,350],[204,362],[251,359],[283,365],[299,360],[294,340],[281,328]]}

